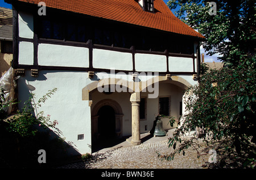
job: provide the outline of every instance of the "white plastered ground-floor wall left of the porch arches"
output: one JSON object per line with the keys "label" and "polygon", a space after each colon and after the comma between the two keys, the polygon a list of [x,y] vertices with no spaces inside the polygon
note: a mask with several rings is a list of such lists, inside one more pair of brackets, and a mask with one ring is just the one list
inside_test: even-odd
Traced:
{"label": "white plastered ground-floor wall left of the porch arches", "polygon": [[[26,71],[26,76],[18,79],[19,100],[24,102],[29,93],[34,93],[37,102],[48,90],[56,87],[56,93],[42,103],[38,112],[44,111],[44,115],[51,115],[51,120],[57,120],[57,128],[63,133],[65,141],[72,142],[80,153],[91,152],[90,107],[88,101],[82,101],[82,88],[86,86],[88,74],[50,70],[39,71],[36,78],[30,74]],[[85,139],[78,141],[79,134],[84,134]]]}

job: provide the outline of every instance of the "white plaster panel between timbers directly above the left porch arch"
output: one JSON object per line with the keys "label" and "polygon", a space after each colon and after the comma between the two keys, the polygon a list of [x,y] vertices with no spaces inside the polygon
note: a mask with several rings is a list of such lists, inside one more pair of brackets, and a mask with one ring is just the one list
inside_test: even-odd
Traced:
{"label": "white plaster panel between timbers directly above the left porch arch", "polygon": [[133,70],[131,53],[93,49],[93,68]]}

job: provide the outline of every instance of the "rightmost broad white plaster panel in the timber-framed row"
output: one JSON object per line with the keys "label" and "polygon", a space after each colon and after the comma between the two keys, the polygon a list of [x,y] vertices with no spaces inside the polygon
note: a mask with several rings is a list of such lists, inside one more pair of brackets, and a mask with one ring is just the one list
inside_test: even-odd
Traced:
{"label": "rightmost broad white plaster panel in the timber-framed row", "polygon": [[193,72],[193,58],[169,57],[170,72]]}

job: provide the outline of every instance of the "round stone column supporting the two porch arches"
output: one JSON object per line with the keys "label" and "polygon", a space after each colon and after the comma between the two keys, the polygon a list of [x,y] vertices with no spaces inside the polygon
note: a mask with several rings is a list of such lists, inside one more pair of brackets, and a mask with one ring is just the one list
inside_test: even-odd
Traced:
{"label": "round stone column supporting the two porch arches", "polygon": [[139,131],[139,102],[141,95],[139,92],[131,94],[131,143],[134,145],[141,144],[141,133]]}

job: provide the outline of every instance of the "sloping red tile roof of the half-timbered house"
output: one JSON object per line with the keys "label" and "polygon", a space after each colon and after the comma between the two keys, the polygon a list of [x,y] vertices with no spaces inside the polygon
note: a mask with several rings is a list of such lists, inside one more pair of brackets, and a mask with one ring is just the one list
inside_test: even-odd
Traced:
{"label": "sloping red tile roof of the half-timbered house", "polygon": [[[42,0],[18,0],[38,4]],[[135,0],[44,0],[47,7],[77,12],[99,18],[135,24],[205,39],[199,32],[181,22],[162,0],[155,0],[155,13],[142,10]]]}

